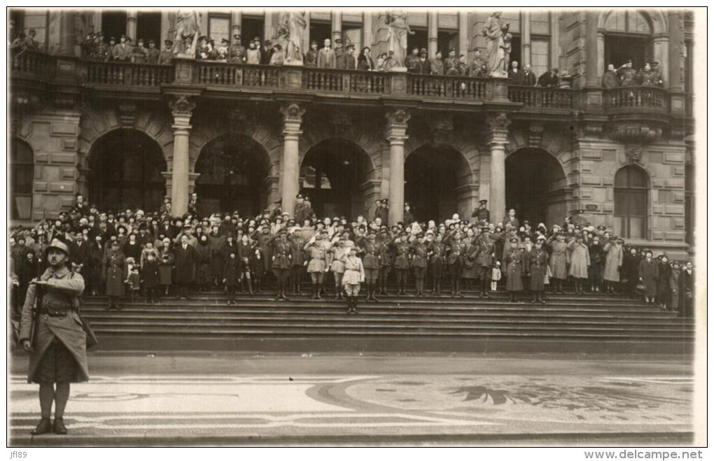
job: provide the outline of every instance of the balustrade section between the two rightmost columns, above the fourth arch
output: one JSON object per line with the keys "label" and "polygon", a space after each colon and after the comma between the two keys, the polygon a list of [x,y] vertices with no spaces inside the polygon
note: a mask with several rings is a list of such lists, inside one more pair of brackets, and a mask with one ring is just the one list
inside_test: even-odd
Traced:
{"label": "balustrade section between the two rightmost columns, above the fourth arch", "polygon": [[486,82],[486,78],[408,74],[407,92],[411,96],[483,101]]}

